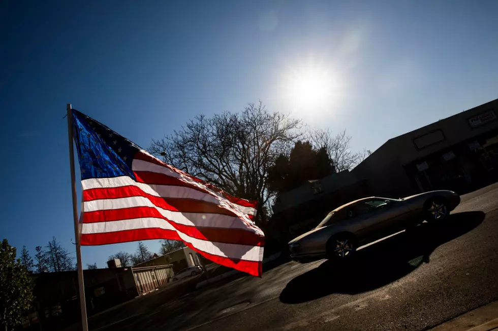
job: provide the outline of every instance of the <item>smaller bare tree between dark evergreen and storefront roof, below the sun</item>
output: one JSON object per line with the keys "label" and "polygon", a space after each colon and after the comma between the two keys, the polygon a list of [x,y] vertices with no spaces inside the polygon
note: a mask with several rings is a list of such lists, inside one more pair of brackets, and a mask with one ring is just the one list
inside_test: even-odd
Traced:
{"label": "smaller bare tree between dark evergreen and storefront roof, below the sun", "polygon": [[335,171],[351,170],[367,156],[367,151],[355,153],[351,151],[351,136],[342,131],[333,135],[329,130],[310,130],[309,140],[315,148],[324,148],[333,162]]}

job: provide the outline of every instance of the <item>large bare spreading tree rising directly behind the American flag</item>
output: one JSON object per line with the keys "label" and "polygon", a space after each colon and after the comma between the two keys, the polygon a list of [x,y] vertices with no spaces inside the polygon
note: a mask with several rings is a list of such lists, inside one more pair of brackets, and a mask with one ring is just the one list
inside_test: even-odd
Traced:
{"label": "large bare spreading tree rising directly behind the American flag", "polygon": [[256,224],[264,227],[274,196],[266,189],[268,168],[290,152],[301,127],[300,120],[270,113],[260,101],[241,113],[198,116],[174,134],[152,140],[149,151],[228,194],[258,201]]}

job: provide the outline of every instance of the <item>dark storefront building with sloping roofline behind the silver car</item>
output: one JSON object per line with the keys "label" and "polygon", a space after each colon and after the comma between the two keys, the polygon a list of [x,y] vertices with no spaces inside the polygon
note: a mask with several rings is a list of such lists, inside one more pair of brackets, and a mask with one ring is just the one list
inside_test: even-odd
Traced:
{"label": "dark storefront building with sloping roofline behind the silver car", "polygon": [[388,140],[353,172],[373,195],[464,194],[498,179],[498,99]]}

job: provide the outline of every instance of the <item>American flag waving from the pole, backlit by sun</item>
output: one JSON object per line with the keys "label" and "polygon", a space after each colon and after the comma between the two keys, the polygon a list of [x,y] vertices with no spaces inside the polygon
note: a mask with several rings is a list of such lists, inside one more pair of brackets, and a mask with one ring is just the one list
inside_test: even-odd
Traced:
{"label": "American flag waving from the pole, backlit by sun", "polygon": [[207,259],[261,276],[257,203],[235,198],[153,157],[72,109],[81,172],[81,245],[182,240]]}

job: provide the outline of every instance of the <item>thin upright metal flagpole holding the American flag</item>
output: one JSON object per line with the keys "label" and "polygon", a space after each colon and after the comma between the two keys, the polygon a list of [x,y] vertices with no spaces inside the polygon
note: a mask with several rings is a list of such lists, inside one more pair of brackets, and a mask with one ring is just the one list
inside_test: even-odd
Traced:
{"label": "thin upright metal flagpole holding the American flag", "polygon": [[88,331],[88,321],[86,320],[85,285],[83,282],[83,264],[81,262],[81,245],[79,235],[78,205],[76,199],[76,175],[74,173],[74,150],[73,150],[73,114],[71,113],[71,103],[68,109],[68,136],[69,136],[69,164],[71,165],[71,188],[73,190],[73,218],[74,218],[74,240],[76,241],[76,262],[78,269],[78,287],[80,290],[81,306],[81,326],[83,331]]}

